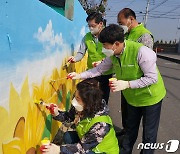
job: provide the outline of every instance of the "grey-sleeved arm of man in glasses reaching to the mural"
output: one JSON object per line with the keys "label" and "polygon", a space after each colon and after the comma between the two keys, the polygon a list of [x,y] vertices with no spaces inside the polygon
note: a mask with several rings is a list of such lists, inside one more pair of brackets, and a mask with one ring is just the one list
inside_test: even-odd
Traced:
{"label": "grey-sleeved arm of man in glasses reaching to the mural", "polygon": [[80,47],[79,47],[79,50],[78,50],[76,56],[74,56],[75,62],[80,61],[84,57],[86,50],[87,50],[87,46],[85,43],[85,37],[83,37]]}

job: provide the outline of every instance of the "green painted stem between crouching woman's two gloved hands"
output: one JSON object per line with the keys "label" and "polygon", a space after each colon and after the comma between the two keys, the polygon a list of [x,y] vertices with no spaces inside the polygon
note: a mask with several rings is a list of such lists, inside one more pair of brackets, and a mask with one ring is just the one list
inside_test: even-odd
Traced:
{"label": "green painted stem between crouching woman's two gloved hands", "polygon": [[49,114],[46,117],[45,128],[44,128],[44,132],[43,132],[43,135],[42,135],[42,139],[44,139],[44,138],[50,139],[51,125],[52,125],[52,115]]}

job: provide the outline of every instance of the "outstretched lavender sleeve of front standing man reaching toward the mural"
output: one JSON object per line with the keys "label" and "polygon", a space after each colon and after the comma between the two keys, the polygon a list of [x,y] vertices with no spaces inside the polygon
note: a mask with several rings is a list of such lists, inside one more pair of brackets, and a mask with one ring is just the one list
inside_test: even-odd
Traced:
{"label": "outstretched lavender sleeve of front standing man reaching toward the mural", "polygon": [[80,73],[81,79],[93,78],[100,76],[112,67],[112,61],[109,57],[106,57],[98,66],[88,71]]}

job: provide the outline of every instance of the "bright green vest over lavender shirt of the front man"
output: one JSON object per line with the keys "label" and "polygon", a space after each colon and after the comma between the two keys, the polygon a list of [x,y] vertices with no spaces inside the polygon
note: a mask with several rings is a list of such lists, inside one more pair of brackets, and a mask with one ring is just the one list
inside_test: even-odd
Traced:
{"label": "bright green vest over lavender shirt of the front man", "polygon": [[[140,43],[125,41],[125,49],[119,57],[120,61],[117,57],[111,56],[113,68],[118,80],[131,81],[143,76],[143,72],[137,62],[138,51],[141,46],[142,44]],[[166,90],[158,68],[157,71],[157,83],[144,88],[128,88],[122,91],[128,104],[135,107],[150,106],[164,98]]]}

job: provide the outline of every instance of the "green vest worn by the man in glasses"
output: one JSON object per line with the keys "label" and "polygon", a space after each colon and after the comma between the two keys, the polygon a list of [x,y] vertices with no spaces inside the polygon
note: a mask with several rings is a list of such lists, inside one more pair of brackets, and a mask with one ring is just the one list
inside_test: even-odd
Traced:
{"label": "green vest worn by the man in glasses", "polygon": [[[101,61],[106,55],[102,53],[102,43],[99,41],[96,43],[90,32],[85,35],[85,44],[88,52],[87,67],[91,69],[93,68],[93,62]],[[112,74],[112,69],[106,71],[103,75],[108,74]]]}

